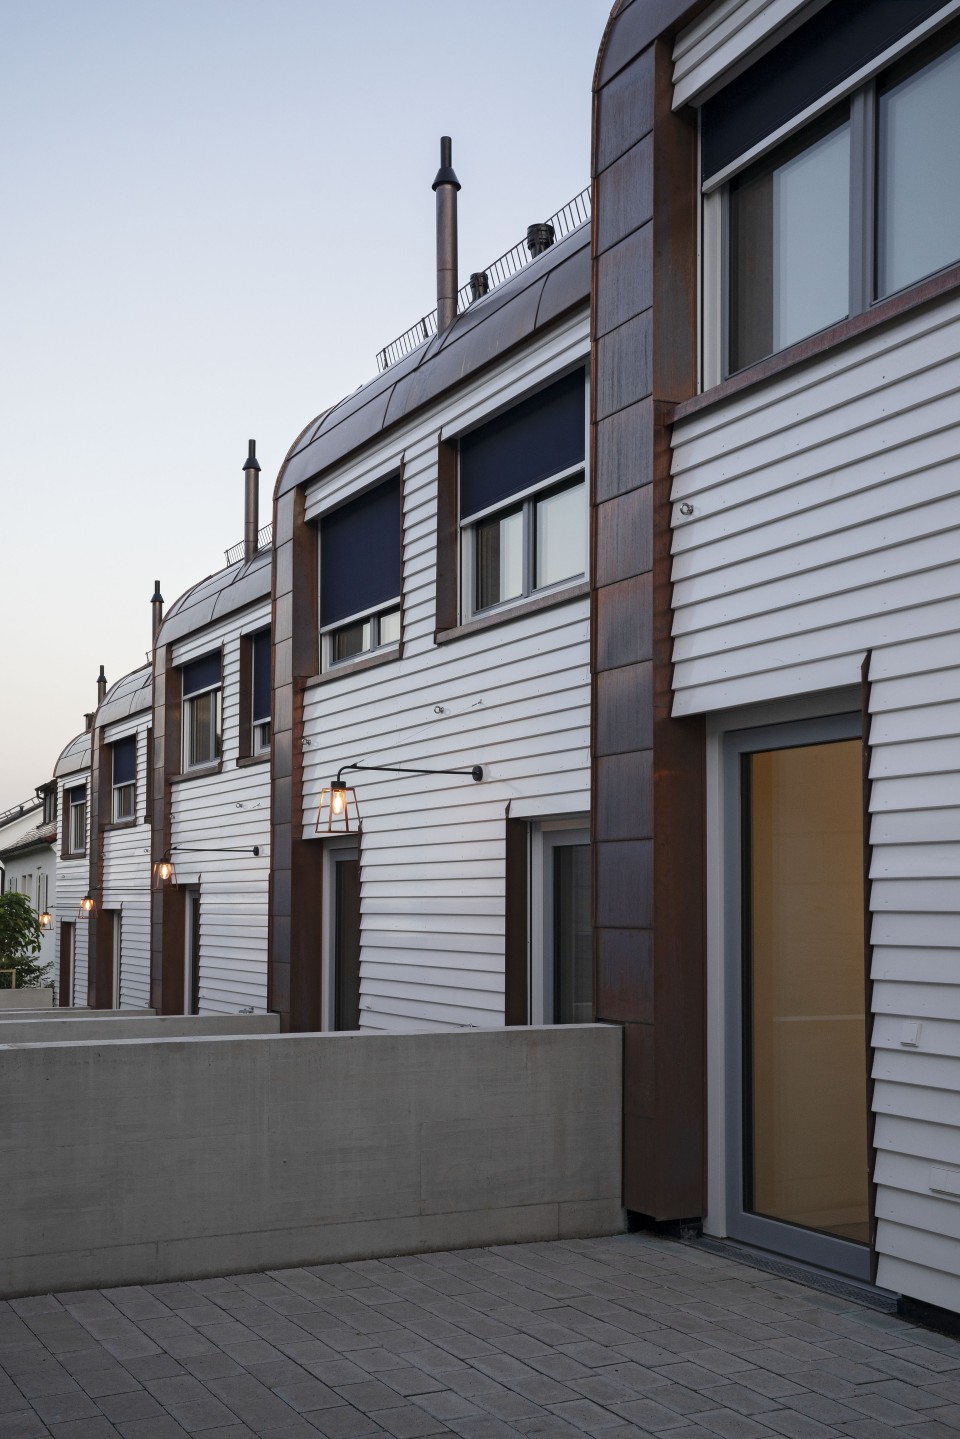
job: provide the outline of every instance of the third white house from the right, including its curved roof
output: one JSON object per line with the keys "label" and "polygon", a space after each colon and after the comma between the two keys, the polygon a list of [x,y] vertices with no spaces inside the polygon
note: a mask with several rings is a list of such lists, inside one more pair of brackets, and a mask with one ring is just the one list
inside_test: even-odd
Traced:
{"label": "third white house from the right, including its curved roof", "polygon": [[176,889],[153,896],[164,1013],[266,1010],[271,560],[201,580],[157,635],[154,858],[176,865]]}

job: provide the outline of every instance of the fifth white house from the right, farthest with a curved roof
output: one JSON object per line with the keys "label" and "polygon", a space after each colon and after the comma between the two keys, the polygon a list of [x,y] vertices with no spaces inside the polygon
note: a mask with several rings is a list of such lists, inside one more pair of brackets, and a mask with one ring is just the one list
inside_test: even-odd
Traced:
{"label": "fifth white house from the right, farthest with a curved roof", "polygon": [[56,973],[60,1004],[86,1006],[88,931],[81,914],[89,894],[91,732],[78,734],[53,767],[59,843],[56,850]]}

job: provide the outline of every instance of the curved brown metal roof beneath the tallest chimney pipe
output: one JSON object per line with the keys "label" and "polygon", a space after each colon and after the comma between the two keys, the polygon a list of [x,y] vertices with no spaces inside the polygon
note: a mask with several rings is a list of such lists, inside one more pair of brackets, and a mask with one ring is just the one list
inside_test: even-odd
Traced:
{"label": "curved brown metal roof beneath the tallest chimney pipe", "polygon": [[276,481],[285,495],[590,299],[590,226],[551,245],[475,301],[442,335],[312,420]]}

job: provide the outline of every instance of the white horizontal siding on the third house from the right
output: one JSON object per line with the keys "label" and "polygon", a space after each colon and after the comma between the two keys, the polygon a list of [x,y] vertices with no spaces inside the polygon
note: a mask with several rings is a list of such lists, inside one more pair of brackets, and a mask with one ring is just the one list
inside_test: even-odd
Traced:
{"label": "white horizontal siding on the third house from the right", "polygon": [[[271,767],[237,767],[236,761],[240,636],[269,622],[269,600],[262,600],[174,646],[174,663],[184,665],[223,645],[222,770],[170,789],[177,879],[200,891],[203,1014],[266,1010]],[[259,856],[214,852],[255,845]]]}

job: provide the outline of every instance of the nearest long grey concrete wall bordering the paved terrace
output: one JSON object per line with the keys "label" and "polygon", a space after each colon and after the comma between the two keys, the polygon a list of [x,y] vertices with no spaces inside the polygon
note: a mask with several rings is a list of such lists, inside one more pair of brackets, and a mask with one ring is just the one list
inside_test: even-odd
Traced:
{"label": "nearest long grey concrete wall bordering the paved terrace", "polygon": [[0,1295],[615,1233],[622,1032],[0,1049]]}

